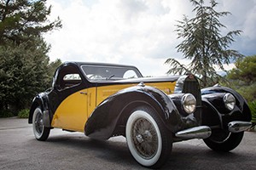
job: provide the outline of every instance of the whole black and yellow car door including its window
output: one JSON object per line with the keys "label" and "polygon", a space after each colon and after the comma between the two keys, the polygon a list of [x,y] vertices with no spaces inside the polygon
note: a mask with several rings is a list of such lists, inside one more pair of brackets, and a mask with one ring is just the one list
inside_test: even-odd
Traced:
{"label": "whole black and yellow car door including its window", "polygon": [[84,132],[84,124],[88,118],[88,95],[84,83],[76,65],[64,65],[58,71],[52,127]]}

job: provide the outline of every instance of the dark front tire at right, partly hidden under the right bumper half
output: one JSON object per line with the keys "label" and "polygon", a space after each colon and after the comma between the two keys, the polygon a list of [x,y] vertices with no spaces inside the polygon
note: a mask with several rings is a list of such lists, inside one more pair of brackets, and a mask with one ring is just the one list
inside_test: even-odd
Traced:
{"label": "dark front tire at right, partly hidden under the right bumper half", "polygon": [[243,132],[230,133],[227,130],[215,129],[209,138],[204,139],[204,142],[212,150],[227,152],[234,150],[241,143],[242,137]]}

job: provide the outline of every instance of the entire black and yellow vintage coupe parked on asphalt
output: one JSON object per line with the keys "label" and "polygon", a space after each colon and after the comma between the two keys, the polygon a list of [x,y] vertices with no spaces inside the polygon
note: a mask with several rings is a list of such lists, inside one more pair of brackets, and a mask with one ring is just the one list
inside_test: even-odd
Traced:
{"label": "entire black and yellow vintage coupe parked on asphalt", "polygon": [[32,101],[29,123],[36,139],[54,127],[92,139],[123,135],[144,167],[162,166],[174,142],[203,139],[230,151],[251,127],[247,102],[230,88],[200,88],[192,74],[143,77],[131,65],[67,62],[52,88]]}

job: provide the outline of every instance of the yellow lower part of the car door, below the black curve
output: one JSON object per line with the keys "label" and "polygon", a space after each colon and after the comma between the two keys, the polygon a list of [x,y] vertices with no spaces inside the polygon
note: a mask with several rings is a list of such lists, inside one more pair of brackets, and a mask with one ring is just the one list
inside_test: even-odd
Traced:
{"label": "yellow lower part of the car door, below the black curve", "polygon": [[87,121],[87,89],[71,94],[61,102],[55,111],[52,127],[84,132]]}

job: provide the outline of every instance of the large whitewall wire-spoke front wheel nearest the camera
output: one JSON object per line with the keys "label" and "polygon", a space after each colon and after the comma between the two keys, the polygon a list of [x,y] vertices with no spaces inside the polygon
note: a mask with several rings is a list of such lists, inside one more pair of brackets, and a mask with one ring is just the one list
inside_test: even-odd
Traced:
{"label": "large whitewall wire-spoke front wheel nearest the camera", "polygon": [[172,152],[172,133],[149,107],[132,111],[126,123],[126,140],[135,160],[144,167],[161,167]]}

